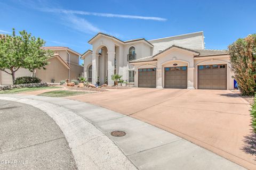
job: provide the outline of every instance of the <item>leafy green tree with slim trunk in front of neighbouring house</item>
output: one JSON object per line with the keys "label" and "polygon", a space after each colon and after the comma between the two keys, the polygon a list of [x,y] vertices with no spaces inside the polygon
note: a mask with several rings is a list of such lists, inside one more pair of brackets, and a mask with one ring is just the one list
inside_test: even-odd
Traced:
{"label": "leafy green tree with slim trunk in front of neighbouring house", "polygon": [[13,84],[15,72],[20,68],[31,72],[44,68],[53,54],[50,50],[41,48],[45,44],[43,39],[35,38],[25,30],[19,33],[20,36],[15,35],[13,29],[12,35],[0,36],[0,70],[12,75]]}

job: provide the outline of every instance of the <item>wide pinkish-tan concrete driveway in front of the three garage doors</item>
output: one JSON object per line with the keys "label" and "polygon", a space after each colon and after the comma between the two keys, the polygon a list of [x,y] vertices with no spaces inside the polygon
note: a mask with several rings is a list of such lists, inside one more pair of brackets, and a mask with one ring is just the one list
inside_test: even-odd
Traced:
{"label": "wide pinkish-tan concrete driveway in front of the three garage doors", "polygon": [[256,169],[250,105],[229,90],[131,88],[68,98],[137,118]]}

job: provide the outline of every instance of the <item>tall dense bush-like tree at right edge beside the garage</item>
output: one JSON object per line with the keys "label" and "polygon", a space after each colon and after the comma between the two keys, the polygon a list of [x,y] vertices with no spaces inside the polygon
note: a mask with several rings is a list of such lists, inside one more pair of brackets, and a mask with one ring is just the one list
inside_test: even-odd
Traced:
{"label": "tall dense bush-like tree at right edge beside the garage", "polygon": [[242,95],[256,90],[256,34],[239,38],[228,46],[231,70]]}

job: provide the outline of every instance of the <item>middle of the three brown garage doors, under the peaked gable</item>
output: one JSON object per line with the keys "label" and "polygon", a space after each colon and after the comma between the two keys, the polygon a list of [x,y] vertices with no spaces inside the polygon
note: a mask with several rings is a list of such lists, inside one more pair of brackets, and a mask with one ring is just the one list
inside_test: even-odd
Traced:
{"label": "middle of the three brown garage doors, under the peaked gable", "polygon": [[164,88],[187,88],[187,66],[165,67]]}

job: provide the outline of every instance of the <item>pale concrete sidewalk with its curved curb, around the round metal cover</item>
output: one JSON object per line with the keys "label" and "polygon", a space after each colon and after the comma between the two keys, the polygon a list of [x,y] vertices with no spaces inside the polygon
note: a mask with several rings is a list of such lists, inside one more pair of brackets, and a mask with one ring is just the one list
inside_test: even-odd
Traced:
{"label": "pale concrete sidewalk with its curved curb, around the round metal cover", "polygon": [[[176,135],[100,106],[64,98],[0,95],[37,107],[60,126],[78,169],[244,169]],[[112,131],[125,131],[113,137]]]}

